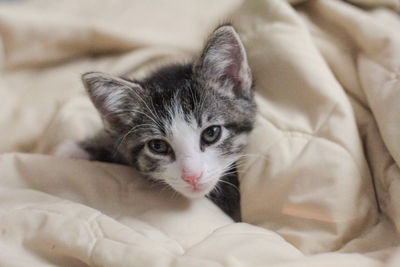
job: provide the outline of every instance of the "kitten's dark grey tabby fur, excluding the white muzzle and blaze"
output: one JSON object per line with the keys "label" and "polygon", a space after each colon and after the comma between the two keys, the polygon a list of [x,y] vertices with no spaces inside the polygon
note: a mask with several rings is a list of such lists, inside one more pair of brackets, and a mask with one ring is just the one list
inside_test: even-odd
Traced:
{"label": "kitten's dark grey tabby fur, excluding the white muzzle and blaze", "polygon": [[212,150],[226,159],[221,170],[228,174],[216,177],[224,181],[217,185],[221,190],[213,186],[205,193],[240,220],[239,192],[228,183],[239,185],[232,170],[253,129],[256,105],[246,53],[231,25],[218,27],[194,62],[162,67],[140,81],[98,72],[84,74],[82,81],[105,126],[80,143],[90,159],[131,165],[172,188],[174,183],[162,175],[180,155],[152,155],[146,143],[170,138],[178,113],[193,127],[220,125],[224,135],[212,148],[202,147],[200,140],[195,144],[201,153]]}

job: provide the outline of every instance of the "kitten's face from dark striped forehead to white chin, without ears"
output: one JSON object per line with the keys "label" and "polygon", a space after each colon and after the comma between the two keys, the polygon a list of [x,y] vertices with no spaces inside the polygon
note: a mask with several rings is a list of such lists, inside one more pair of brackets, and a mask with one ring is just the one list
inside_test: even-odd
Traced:
{"label": "kitten's face from dark striped forehead to white chin, without ears", "polygon": [[133,158],[142,172],[187,197],[202,196],[240,156],[252,127],[254,107],[251,102],[207,92],[196,83],[174,85],[179,90],[175,89],[172,98],[165,91],[162,98],[152,94],[150,103],[157,107],[153,111],[161,127],[145,119],[152,129],[133,134],[125,147],[142,146]]}

